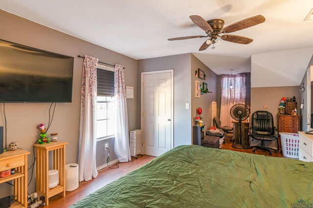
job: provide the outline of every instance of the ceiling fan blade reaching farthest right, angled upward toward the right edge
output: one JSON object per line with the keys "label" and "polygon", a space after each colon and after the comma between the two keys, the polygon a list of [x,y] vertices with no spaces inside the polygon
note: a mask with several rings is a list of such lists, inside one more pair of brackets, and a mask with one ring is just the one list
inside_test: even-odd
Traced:
{"label": "ceiling fan blade reaching farthest right, angled upward toward the right edge", "polygon": [[241,21],[235,22],[224,27],[221,30],[221,33],[232,33],[238,30],[243,30],[248,27],[252,27],[254,25],[260,24],[265,21],[265,18],[262,15],[257,15],[251,18],[243,19]]}

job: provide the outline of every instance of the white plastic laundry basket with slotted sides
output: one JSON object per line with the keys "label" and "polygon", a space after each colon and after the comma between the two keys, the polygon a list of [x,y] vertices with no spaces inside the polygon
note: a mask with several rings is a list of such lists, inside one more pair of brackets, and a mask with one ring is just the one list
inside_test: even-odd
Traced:
{"label": "white plastic laundry basket with slotted sides", "polygon": [[299,159],[299,134],[280,132],[283,155]]}

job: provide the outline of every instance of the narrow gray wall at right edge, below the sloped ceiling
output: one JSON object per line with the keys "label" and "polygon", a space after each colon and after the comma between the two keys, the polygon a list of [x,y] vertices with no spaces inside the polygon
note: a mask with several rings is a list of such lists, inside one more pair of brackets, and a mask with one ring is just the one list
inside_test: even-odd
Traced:
{"label": "narrow gray wall at right edge, below the sloped ceiling", "polygon": [[[310,62],[308,64],[307,69],[310,68],[310,66],[313,66],[313,56],[312,56],[312,58],[311,58],[311,60],[310,60]],[[300,109],[300,113],[302,115],[302,117],[301,117],[302,118],[302,131],[308,131],[308,129],[307,129],[307,122],[308,122],[308,119],[307,119],[308,118],[307,117],[307,113],[308,113],[308,106],[307,106],[307,103],[308,103],[308,101],[307,101],[307,99],[308,99],[308,96],[307,96],[307,93],[308,93],[307,92],[307,69],[305,69],[305,74],[304,74],[303,79],[301,81],[301,84],[299,86],[299,89],[300,89],[300,87],[302,85],[302,82],[303,82],[304,83],[304,88],[305,88],[305,91],[300,92],[300,100],[299,100],[301,102],[302,102],[302,100],[304,100],[304,108]],[[311,98],[313,97],[312,96],[312,92],[313,91],[311,90]],[[311,107],[312,106],[313,106],[313,104],[311,102]],[[311,111],[311,113],[313,113],[313,112]]]}

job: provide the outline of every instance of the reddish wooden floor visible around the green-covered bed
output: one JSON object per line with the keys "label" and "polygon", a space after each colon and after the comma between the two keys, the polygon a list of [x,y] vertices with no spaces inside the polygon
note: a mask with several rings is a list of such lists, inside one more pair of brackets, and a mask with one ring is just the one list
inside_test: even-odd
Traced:
{"label": "reddish wooden floor visible around the green-covered bed", "polygon": [[[235,149],[231,147],[232,143],[229,139],[225,139],[225,143],[223,144],[222,149],[224,150],[232,150],[232,151],[241,151],[252,153],[251,149],[241,150]],[[269,155],[266,151],[256,151],[253,154],[261,154],[271,157],[283,157],[282,153],[274,153]],[[127,174],[128,172],[139,168],[140,166],[144,165],[145,163],[151,161],[155,157],[149,155],[138,156],[138,159],[134,159],[133,162],[128,163],[119,163],[118,169],[106,169],[100,171],[98,177],[89,181],[85,184],[79,184],[79,188],[74,191],[66,192],[66,197],[62,197],[61,194],[53,196],[49,199],[49,205],[46,206],[48,208],[67,208],[68,206],[74,204],[75,202],[79,201],[80,199],[84,198],[85,196],[89,195],[90,193],[104,187],[105,185],[115,181],[116,179],[122,177],[123,175]],[[112,168],[115,167],[114,165]]]}

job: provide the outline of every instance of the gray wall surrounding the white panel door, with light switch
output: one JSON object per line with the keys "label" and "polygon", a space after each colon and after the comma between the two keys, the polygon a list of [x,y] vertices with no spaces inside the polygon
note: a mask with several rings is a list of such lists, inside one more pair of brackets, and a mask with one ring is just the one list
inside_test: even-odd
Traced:
{"label": "gray wall surrounding the white panel door, with light switch", "polygon": [[191,144],[191,110],[185,109],[185,103],[191,104],[190,66],[191,54],[138,60],[137,126],[141,122],[141,73],[174,69],[174,147]]}

